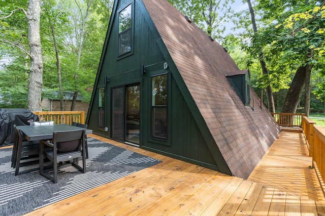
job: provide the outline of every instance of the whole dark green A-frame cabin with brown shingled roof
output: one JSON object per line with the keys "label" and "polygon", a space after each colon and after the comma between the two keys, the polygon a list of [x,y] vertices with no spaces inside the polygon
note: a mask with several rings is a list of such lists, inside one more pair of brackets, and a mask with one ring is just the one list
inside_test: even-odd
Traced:
{"label": "whole dark green A-frame cabin with brown shingled roof", "polygon": [[166,0],[116,0],[93,133],[246,179],[280,128],[249,71]]}

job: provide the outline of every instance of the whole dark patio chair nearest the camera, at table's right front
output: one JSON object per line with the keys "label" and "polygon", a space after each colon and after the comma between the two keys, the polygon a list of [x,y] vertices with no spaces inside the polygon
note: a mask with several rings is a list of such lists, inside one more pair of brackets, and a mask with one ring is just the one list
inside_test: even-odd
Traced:
{"label": "whole dark patio chair nearest the camera, at table's right front", "polygon": [[[85,149],[85,130],[68,132],[54,132],[52,142],[41,141],[40,155],[49,159],[53,163],[51,169],[44,169],[44,158],[40,159],[40,174],[49,179],[53,183],[57,183],[57,166],[59,162],[70,161],[73,159],[72,165],[85,173],[86,171],[86,149]],[[49,146],[51,150],[44,150],[45,146]],[[78,159],[82,158],[82,167],[78,164]],[[53,170],[53,176],[50,172]]]}

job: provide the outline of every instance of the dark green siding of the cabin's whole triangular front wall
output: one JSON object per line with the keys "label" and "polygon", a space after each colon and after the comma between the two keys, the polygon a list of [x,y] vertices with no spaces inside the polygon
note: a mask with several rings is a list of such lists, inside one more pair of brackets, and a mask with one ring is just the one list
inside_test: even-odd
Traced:
{"label": "dark green siding of the cabin's whole triangular front wall", "polygon": [[[161,38],[153,24],[150,22],[142,3],[136,0],[134,4],[134,45],[133,53],[125,58],[118,57],[118,20],[117,11],[124,7],[129,1],[119,1],[115,18],[107,35],[107,47],[103,51],[102,67],[99,69],[98,77],[92,96],[91,112],[87,117],[89,128],[93,133],[110,138],[111,135],[111,89],[133,83],[141,85],[141,137],[140,147],[160,154],[168,155],[194,164],[219,170],[216,165],[206,140],[193,117],[191,109],[184,99],[184,93],[178,87],[172,74],[178,74],[175,64],[171,62],[169,54],[164,46],[161,46]],[[114,12],[114,11],[113,11]],[[164,16],[164,15],[162,15]],[[160,45],[159,45],[160,43]],[[161,49],[161,50],[160,50]],[[168,60],[164,58],[168,57]],[[170,62],[168,62],[170,61]],[[164,69],[164,62],[172,65]],[[140,66],[144,65],[147,73],[141,75]],[[151,138],[151,76],[168,73],[168,140],[155,140]],[[105,84],[105,77],[109,82]],[[98,88],[106,87],[106,125],[108,132],[98,127]],[[184,87],[182,87],[184,88]],[[187,91],[183,91],[187,92]],[[186,94],[186,93],[185,93]],[[190,97],[187,95],[185,97]],[[192,101],[192,99],[189,99]],[[207,134],[207,132],[205,132]],[[214,144],[215,145],[215,144]]]}

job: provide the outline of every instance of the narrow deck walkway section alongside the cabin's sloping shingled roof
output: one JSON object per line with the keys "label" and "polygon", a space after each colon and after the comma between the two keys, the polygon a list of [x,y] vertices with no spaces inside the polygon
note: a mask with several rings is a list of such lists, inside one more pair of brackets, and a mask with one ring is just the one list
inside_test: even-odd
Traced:
{"label": "narrow deck walkway section alongside the cabin's sloping shingled roof", "polygon": [[281,132],[248,180],[325,201],[303,134]]}

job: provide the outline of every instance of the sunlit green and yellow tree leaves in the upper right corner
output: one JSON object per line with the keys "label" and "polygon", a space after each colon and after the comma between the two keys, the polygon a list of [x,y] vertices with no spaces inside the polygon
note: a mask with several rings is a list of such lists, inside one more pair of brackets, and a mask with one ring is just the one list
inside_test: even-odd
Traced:
{"label": "sunlit green and yellow tree leaves in the upper right corner", "polygon": [[[258,75],[258,87],[263,89],[270,83],[274,92],[296,85],[302,88],[305,84],[302,79],[291,82],[299,68],[304,67],[306,72],[323,68],[320,66],[324,63],[323,4],[323,1],[257,0],[254,7],[258,17],[256,34],[248,28],[248,11],[237,14],[237,28],[245,29],[237,36],[241,38],[240,45],[247,59],[251,59],[247,62],[253,62],[262,51],[269,70],[268,76]],[[295,93],[297,100],[300,92]]]}

